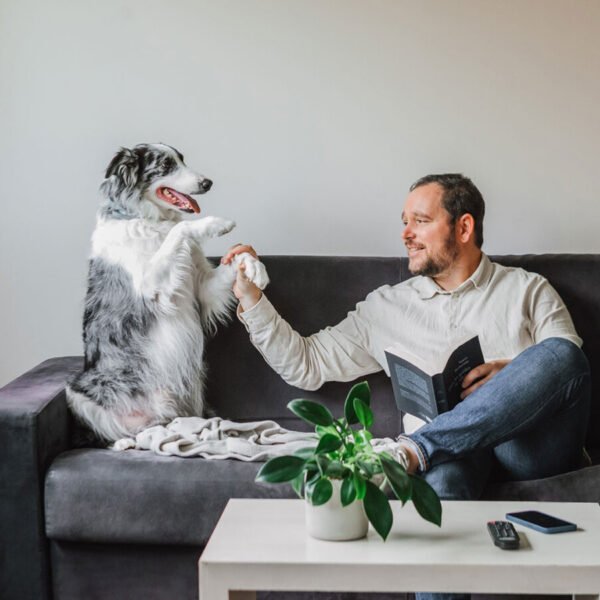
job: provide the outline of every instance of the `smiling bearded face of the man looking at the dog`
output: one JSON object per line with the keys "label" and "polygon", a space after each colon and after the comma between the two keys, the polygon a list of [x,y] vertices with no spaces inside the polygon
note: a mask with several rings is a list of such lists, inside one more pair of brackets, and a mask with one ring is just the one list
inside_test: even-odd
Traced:
{"label": "smiling bearded face of the man looking at the dog", "polygon": [[440,185],[429,183],[413,190],[406,198],[402,239],[408,250],[408,268],[414,275],[439,275],[458,256],[456,232],[442,206],[443,195]]}

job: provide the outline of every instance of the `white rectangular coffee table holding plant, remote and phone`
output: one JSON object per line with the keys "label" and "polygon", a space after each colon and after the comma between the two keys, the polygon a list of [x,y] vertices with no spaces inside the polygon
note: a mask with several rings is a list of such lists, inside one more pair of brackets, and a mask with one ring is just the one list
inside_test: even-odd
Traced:
{"label": "white rectangular coffee table holding plant, remote and phone", "polygon": [[[253,600],[254,590],[574,594],[598,599],[600,507],[558,502],[443,502],[438,528],[393,502],[384,543],[306,534],[302,500],[230,500],[200,558],[201,600]],[[500,550],[489,520],[535,509],[579,529],[546,535],[516,525],[519,550]]]}

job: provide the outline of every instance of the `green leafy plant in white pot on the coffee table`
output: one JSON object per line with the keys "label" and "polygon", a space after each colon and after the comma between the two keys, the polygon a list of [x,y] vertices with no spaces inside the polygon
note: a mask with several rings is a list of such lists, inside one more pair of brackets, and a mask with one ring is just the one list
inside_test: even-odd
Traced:
{"label": "green leafy plant in white pot on the coffee table", "polygon": [[[369,431],[373,424],[371,391],[367,382],[352,387],[344,404],[344,417],[334,419],[322,404],[311,400],[292,400],[287,406],[298,417],[315,425],[318,442],[293,455],[266,462],[256,476],[266,483],[290,482],[300,498],[307,501],[309,533],[322,539],[355,539],[366,535],[367,520],[385,540],[392,528],[393,514],[384,489],[389,487],[404,505],[412,500],[427,521],[441,525],[442,506],[431,486],[405,468],[387,452],[376,452]],[[362,504],[362,506],[361,506]],[[336,506],[337,505],[337,506]],[[354,506],[353,506],[354,505]],[[310,511],[329,507],[323,518],[310,520]],[[363,511],[364,507],[364,511]],[[341,531],[351,509],[363,516],[364,525]],[[350,511],[348,511],[350,512]],[[336,513],[337,521],[332,521]],[[317,513],[319,514],[319,513]],[[348,519],[349,520],[349,519]],[[316,528],[329,523],[329,532]],[[333,525],[332,525],[333,523]]]}

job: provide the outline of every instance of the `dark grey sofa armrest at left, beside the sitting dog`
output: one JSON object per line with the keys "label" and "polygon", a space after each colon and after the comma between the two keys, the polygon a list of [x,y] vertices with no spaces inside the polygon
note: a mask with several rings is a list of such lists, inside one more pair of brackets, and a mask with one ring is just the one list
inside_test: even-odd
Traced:
{"label": "dark grey sofa armrest at left, beside the sitting dog", "polygon": [[69,447],[67,381],[79,357],[47,360],[0,389],[0,596],[50,598],[44,476]]}

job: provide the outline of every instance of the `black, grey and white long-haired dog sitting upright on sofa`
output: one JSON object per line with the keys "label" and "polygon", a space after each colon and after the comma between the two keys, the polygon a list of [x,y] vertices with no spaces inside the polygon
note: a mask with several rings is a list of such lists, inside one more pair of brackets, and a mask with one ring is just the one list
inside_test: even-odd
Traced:
{"label": "black, grey and white long-haired dog sitting upright on sofa", "polygon": [[179,416],[203,416],[206,334],[235,304],[236,269],[264,289],[264,265],[243,253],[213,268],[202,244],[235,223],[200,213],[191,195],[212,181],[166,144],[114,156],[92,236],[83,317],[84,368],[67,386],[75,415],[114,442]]}

